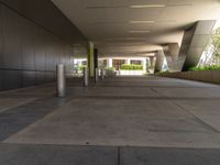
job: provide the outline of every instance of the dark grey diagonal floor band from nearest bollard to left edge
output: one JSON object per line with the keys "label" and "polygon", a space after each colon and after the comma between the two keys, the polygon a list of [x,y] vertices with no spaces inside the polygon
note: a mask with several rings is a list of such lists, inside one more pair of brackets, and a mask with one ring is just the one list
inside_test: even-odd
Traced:
{"label": "dark grey diagonal floor band from nearest bollard to left edge", "polygon": [[43,98],[0,113],[0,141],[63,106],[67,99]]}

